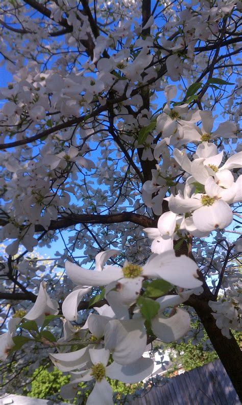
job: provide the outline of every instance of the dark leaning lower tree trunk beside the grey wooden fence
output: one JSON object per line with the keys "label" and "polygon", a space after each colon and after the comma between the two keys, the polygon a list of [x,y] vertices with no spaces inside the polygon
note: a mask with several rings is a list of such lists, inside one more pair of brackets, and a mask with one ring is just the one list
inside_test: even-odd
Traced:
{"label": "dark leaning lower tree trunk beside the grey wooden fence", "polygon": [[242,352],[232,334],[231,339],[228,339],[221,333],[221,329],[217,328],[215,319],[211,314],[212,310],[208,305],[209,300],[214,301],[214,296],[209,288],[205,287],[203,294],[200,296],[191,296],[186,303],[196,310],[212,346],[219,356],[242,402]]}

